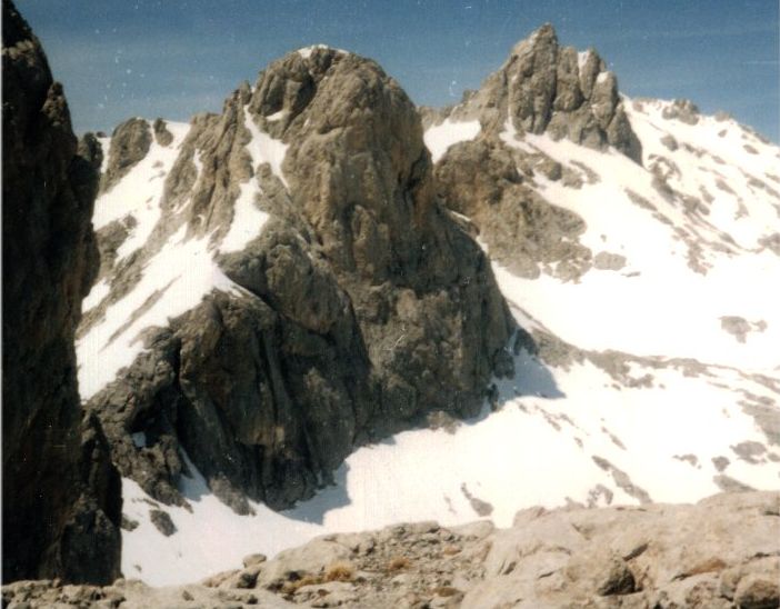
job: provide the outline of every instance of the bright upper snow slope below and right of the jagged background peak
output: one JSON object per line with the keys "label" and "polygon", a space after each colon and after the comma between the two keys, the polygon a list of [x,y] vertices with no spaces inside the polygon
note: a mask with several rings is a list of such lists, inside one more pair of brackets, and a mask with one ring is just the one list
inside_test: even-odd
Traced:
{"label": "bright upper snow slope below and right of the jagged background peak", "polygon": [[[614,150],[590,150],[547,134],[527,133],[518,142],[504,131],[502,139],[518,149],[542,152],[573,171],[584,168],[580,188],[539,173],[534,188],[586,221],[580,242],[593,253],[608,250],[627,259],[621,272],[588,272],[578,282],[544,273],[523,279],[498,271],[504,276],[504,293],[511,286],[509,293],[516,294],[519,307],[533,311],[563,340],[588,349],[692,357],[746,370],[780,365],[772,347],[780,341],[780,292],[767,289],[780,277],[780,257],[771,251],[708,248],[708,242],[719,242],[719,229],[703,221],[696,224],[679,200],[658,191],[652,172]],[[687,179],[698,176],[693,169],[690,173],[693,178]],[[631,193],[649,207],[637,204]],[[767,211],[767,196],[754,197],[751,204],[751,210]],[[778,226],[777,217],[770,222],[763,212],[748,213],[740,221],[750,223],[754,234]],[[679,229],[704,244],[707,274],[689,267],[689,249]],[[573,309],[572,302],[577,303]],[[762,320],[767,327],[746,343],[737,343],[718,330],[720,318],[731,315]]]}

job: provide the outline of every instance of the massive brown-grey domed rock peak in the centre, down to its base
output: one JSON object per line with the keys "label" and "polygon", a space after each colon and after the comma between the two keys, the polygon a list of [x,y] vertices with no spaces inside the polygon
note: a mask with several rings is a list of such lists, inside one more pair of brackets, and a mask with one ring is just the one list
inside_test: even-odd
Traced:
{"label": "massive brown-grey domed rock peak in the centre, down to its base", "polygon": [[[136,162],[139,146],[118,141],[149,133],[148,123],[121,126],[110,168]],[[261,139],[282,152],[258,162]],[[142,247],[104,264],[110,291],[81,336],[174,233],[208,240],[239,289],[212,291],[148,331],[147,350],[90,399],[123,475],[183,503],[183,449],[238,511],[246,497],[282,508],[310,497],[360,443],[434,410],[478,411],[512,323],[486,256],[436,200],[413,104],[374,62],[293,52],[221,114],[196,117],[177,154],[159,221]],[[232,250],[247,189],[268,220]],[[102,249],[121,247],[133,230],[126,220],[101,229]]]}

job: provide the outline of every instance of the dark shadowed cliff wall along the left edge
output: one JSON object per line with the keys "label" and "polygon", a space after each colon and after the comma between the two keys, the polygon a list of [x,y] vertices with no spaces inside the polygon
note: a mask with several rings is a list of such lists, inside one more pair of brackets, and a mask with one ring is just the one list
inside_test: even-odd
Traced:
{"label": "dark shadowed cliff wall along the left edge", "polygon": [[40,43],[2,22],[2,577],[109,582],[121,499],[97,420],[82,420],[73,333],[97,271],[100,159],[79,144]]}

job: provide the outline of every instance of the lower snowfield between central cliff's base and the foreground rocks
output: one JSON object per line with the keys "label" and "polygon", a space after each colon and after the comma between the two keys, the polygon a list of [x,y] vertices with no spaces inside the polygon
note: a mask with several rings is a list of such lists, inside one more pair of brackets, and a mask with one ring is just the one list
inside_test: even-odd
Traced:
{"label": "lower snowfield between central cliff's base and the foreground rocks", "polygon": [[776,399],[777,386],[729,369],[689,377],[634,366],[631,376],[652,375],[652,387],[629,388],[591,362],[550,370],[526,352],[516,367],[524,381],[500,381],[496,412],[486,407],[449,430],[406,431],[363,447],[339,468],[337,486],[292,510],[252,503],[254,516],[237,516],[193,470],[183,485],[192,511],[160,506],[178,529],[163,537],[150,521],[150,498],[124,479],[123,511],[140,525],[123,533],[122,571],[156,586],[181,583],[337,531],[479,518],[508,527],[519,509],[569,501],[696,501],[719,492],[713,478],[723,475],[778,487],[780,451],[749,462],[730,448],[766,443],[739,402],[743,392]]}

